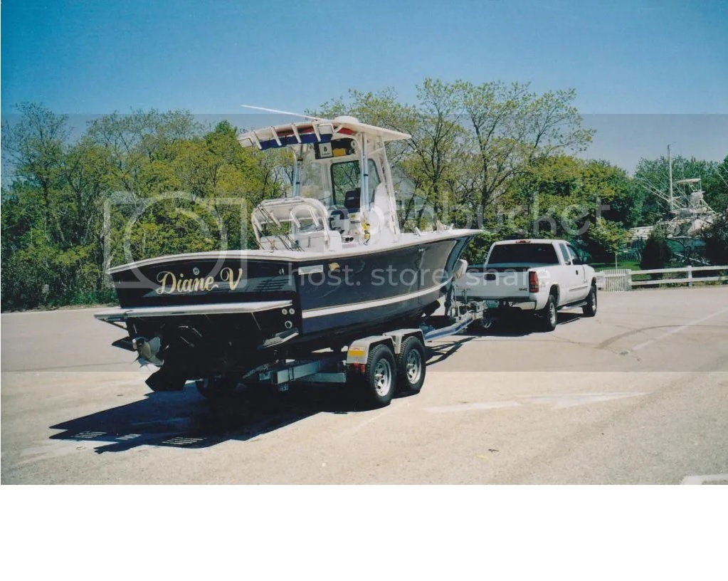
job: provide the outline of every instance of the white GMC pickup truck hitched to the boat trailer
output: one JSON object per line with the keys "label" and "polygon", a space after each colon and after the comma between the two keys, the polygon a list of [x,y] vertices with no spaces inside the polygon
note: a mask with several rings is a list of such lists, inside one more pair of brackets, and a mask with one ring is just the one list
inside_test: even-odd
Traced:
{"label": "white GMC pickup truck hitched to the boat trailer", "polygon": [[556,311],[563,307],[596,315],[594,269],[566,240],[494,242],[486,264],[468,266],[455,291],[485,299],[494,318],[531,311],[545,331],[556,328]]}

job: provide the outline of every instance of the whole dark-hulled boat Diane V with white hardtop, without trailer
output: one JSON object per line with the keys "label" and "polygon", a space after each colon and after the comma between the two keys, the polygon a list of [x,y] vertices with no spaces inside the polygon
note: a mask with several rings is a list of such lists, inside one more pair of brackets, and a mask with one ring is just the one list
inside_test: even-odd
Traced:
{"label": "whole dark-hulled boat Diane V with white hardtop, without trailer", "polygon": [[127,331],[116,347],[159,366],[153,390],[416,327],[451,300],[480,231],[402,232],[385,145],[409,137],[351,116],[238,135],[242,147],[288,147],[295,158],[291,191],[250,213],[258,249],[111,268],[120,306],[95,317]]}

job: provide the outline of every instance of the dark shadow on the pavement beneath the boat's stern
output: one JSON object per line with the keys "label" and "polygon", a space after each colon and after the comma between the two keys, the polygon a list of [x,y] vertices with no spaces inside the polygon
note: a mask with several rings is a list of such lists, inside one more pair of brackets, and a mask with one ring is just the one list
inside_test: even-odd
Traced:
{"label": "dark shadow on the pavement beneath the boat's stern", "polygon": [[235,392],[208,401],[189,382],[181,392],[150,392],[143,400],[50,426],[52,440],[97,441],[103,452],[137,446],[206,448],[226,440],[250,440],[314,414],[365,411],[351,386],[294,386]]}

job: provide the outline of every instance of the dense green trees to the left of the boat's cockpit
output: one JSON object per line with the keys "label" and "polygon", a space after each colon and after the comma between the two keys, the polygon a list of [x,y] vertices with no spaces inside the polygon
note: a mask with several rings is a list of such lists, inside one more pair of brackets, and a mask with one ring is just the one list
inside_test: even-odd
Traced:
{"label": "dense green trees to the left of the boat's cockpit", "polygon": [[74,143],[68,134],[65,116],[33,103],[3,127],[3,309],[114,300],[103,273],[129,258],[213,250],[221,238],[247,248],[248,205],[288,179],[282,157],[242,149],[235,127],[205,128],[186,111],[111,114]]}

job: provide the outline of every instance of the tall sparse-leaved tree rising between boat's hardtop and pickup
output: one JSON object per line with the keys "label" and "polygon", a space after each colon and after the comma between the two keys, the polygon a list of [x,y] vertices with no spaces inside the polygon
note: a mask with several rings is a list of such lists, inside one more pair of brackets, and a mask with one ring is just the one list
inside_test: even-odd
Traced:
{"label": "tall sparse-leaved tree rising between boat's hardtop and pickup", "polygon": [[414,184],[405,218],[419,200],[420,217],[429,206],[437,218],[472,224],[538,159],[580,151],[593,135],[581,127],[573,90],[539,95],[528,84],[425,79],[417,98],[408,106],[392,90],[350,91],[349,100],[324,103],[320,113],[352,114],[412,135],[390,154]]}

